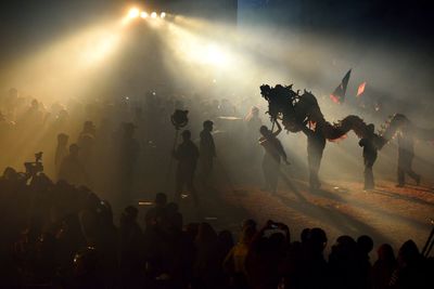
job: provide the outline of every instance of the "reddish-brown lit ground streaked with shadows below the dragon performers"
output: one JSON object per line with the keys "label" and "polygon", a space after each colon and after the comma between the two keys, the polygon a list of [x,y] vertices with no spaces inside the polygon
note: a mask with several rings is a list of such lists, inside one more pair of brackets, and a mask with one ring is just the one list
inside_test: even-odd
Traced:
{"label": "reddish-brown lit ground streaked with shadows below the dragon performers", "polygon": [[[426,241],[434,219],[434,192],[423,186],[395,187],[379,182],[370,192],[357,182],[331,182],[311,193],[306,182],[285,180],[273,195],[259,187],[237,186],[204,198],[202,219],[218,229],[237,232],[245,218],[259,225],[267,220],[286,223],[293,239],[305,227],[326,229],[330,246],[341,235],[357,238],[367,234],[375,248],[390,242],[395,249],[413,239],[420,249]],[[187,198],[188,199],[188,198]],[[186,205],[181,206],[186,210]],[[187,218],[190,219],[190,218]]]}

